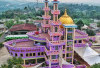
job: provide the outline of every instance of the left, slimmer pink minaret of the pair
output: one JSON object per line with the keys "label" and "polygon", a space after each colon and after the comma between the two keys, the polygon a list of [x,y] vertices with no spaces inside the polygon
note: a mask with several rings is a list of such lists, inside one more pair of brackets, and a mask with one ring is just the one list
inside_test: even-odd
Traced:
{"label": "left, slimmer pink minaret of the pair", "polygon": [[50,8],[48,7],[48,0],[45,0],[45,7],[44,7],[44,15],[42,16],[43,17],[43,23],[41,24],[42,25],[42,28],[43,28],[43,32],[47,33],[48,30],[50,29],[50,25],[49,25],[49,21],[51,19],[51,16],[49,15],[49,11],[50,11]]}

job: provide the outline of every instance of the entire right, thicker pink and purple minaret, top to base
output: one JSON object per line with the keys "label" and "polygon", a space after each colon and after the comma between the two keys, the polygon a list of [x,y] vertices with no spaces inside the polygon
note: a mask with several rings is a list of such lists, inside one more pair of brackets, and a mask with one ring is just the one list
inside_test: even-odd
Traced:
{"label": "entire right, thicker pink and purple minaret, top to base", "polygon": [[[51,64],[58,65],[59,60],[61,60],[61,56],[59,57],[59,50],[62,50],[62,43],[61,36],[63,35],[60,32],[60,25],[61,22],[58,20],[58,15],[60,14],[60,10],[58,10],[58,0],[53,0],[53,10],[51,13],[53,14],[53,20],[50,21],[50,30],[48,34],[50,38],[47,40],[49,51],[52,52],[49,54]],[[54,47],[54,48],[53,48]],[[59,64],[62,67],[62,63]]]}

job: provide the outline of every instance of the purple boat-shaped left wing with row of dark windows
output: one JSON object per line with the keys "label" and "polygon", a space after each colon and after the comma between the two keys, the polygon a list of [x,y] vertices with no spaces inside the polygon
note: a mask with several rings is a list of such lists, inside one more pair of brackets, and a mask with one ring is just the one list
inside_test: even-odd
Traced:
{"label": "purple boat-shaped left wing with row of dark windows", "polygon": [[[43,46],[34,46],[33,44],[30,46],[29,39],[17,39],[17,40],[11,40],[4,43],[4,46],[7,48],[8,52],[13,57],[22,57],[22,58],[38,58],[38,57],[44,57],[44,55],[38,56],[38,52],[44,52]],[[29,42],[26,43],[26,42]],[[31,42],[32,43],[32,42]],[[14,45],[13,45],[14,44]],[[35,56],[26,56],[26,54],[35,53]],[[21,54],[23,56],[21,56]]]}

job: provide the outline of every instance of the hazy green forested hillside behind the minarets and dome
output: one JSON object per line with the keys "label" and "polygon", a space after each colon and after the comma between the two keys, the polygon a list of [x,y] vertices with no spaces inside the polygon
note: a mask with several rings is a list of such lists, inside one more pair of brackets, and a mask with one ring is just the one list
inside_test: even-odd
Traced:
{"label": "hazy green forested hillside behind the minarets and dome", "polygon": [[[39,4],[38,6],[27,5],[24,8],[17,8],[13,10],[7,10],[0,14],[0,19],[33,19],[39,20],[42,19],[43,12],[43,4]],[[49,5],[50,9],[53,9],[53,5]],[[36,9],[39,9],[36,11]],[[75,22],[78,20],[83,20],[86,25],[93,22],[92,19],[100,19],[100,6],[93,6],[87,4],[66,4],[60,3],[59,10],[61,11],[59,17],[63,15],[64,10],[67,9],[67,13],[69,16],[73,18]],[[51,13],[50,13],[51,15]]]}

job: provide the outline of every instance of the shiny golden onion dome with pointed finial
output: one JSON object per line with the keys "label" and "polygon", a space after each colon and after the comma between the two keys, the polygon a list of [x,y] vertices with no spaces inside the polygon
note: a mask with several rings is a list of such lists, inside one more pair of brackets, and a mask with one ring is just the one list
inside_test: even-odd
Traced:
{"label": "shiny golden onion dome with pointed finial", "polygon": [[[66,9],[65,9],[64,15],[61,16],[61,17],[59,18],[59,20],[61,21],[62,25],[63,25],[63,24],[74,24],[72,18],[71,18],[70,16],[67,15]],[[62,28],[62,26],[61,26],[61,28]]]}

